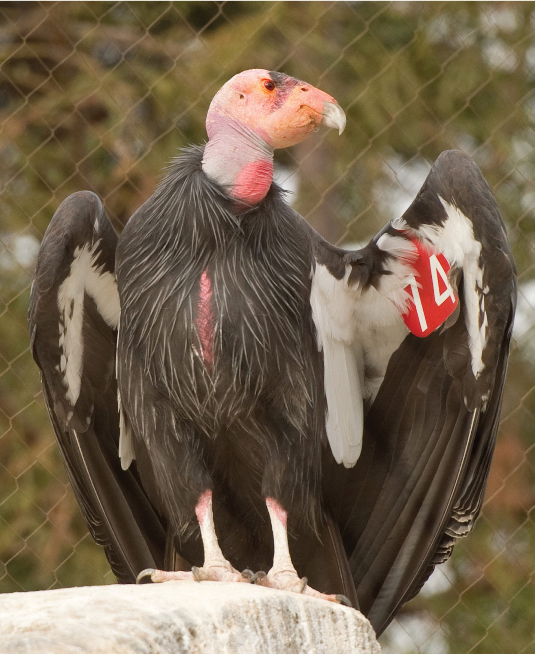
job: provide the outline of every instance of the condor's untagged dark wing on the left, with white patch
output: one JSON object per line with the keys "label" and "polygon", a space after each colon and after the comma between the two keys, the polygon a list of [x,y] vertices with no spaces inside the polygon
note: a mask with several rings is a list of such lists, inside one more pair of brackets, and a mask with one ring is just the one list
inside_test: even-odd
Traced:
{"label": "condor's untagged dark wing on the left, with white patch", "polygon": [[69,196],[39,250],[29,305],[46,407],[90,533],[119,582],[163,565],[164,526],[119,460],[117,234],[94,193]]}

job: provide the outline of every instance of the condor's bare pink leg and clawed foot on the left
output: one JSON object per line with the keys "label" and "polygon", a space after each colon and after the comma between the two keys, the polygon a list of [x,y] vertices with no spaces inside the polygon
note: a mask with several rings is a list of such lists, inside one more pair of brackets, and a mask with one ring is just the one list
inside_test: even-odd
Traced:
{"label": "condor's bare pink leg and clawed foot on the left", "polygon": [[204,564],[201,568],[193,567],[191,571],[159,571],[158,569],[145,569],[138,575],[136,582],[141,578],[149,577],[153,582],[166,582],[167,580],[219,580],[221,582],[248,582],[239,571],[232,567],[225,559],[213,525],[212,491],[208,489],[200,496],[195,514],[200,526],[200,536],[204,548]]}

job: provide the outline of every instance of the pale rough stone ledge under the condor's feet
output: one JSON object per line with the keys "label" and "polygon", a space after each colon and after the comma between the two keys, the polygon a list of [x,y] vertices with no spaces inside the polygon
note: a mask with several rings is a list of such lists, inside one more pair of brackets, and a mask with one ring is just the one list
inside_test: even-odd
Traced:
{"label": "pale rough stone ledge under the condor's feet", "polygon": [[237,582],[0,595],[3,653],[378,653],[360,612]]}

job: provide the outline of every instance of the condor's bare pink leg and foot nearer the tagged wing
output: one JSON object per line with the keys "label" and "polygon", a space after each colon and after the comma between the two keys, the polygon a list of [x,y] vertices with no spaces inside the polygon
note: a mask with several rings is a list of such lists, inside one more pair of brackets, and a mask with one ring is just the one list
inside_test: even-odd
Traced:
{"label": "condor's bare pink leg and foot nearer the tagged wing", "polygon": [[297,591],[308,596],[334,601],[342,605],[351,605],[350,601],[340,594],[321,593],[306,584],[306,578],[299,578],[291,561],[288,548],[287,513],[274,498],[266,498],[267,510],[273,531],[273,566],[266,575],[262,571],[253,576],[253,581],[274,589]]}

